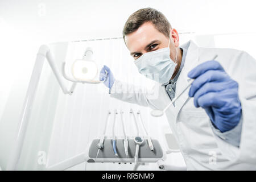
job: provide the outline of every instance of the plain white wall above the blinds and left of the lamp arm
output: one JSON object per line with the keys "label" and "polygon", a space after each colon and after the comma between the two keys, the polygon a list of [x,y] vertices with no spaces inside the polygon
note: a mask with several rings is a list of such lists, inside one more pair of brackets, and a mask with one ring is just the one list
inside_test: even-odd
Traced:
{"label": "plain white wall above the blinds and left of the lamp arm", "polygon": [[[39,46],[64,40],[121,36],[127,17],[142,7],[162,11],[172,27],[181,32],[256,32],[253,0],[1,1],[0,164],[3,169]],[[255,34],[252,36],[255,38]],[[215,46],[245,49],[255,55],[250,37],[250,34],[228,38],[220,35],[214,39]]]}

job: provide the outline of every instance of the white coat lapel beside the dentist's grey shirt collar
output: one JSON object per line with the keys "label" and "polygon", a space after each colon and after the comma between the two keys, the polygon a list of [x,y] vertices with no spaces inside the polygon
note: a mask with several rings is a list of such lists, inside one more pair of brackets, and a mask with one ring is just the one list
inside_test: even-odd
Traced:
{"label": "white coat lapel beside the dentist's grey shirt collar", "polygon": [[[186,44],[189,44],[187,56],[185,57],[184,67],[180,73],[180,76],[176,82],[176,93],[177,96],[181,93],[184,88],[188,85],[188,72],[191,69],[195,68],[199,64],[199,47],[190,40]],[[182,46],[181,46],[182,47]],[[180,109],[184,106],[185,102],[188,101],[189,89],[185,90],[185,92],[180,96],[180,98],[175,102],[175,116],[179,114]]]}

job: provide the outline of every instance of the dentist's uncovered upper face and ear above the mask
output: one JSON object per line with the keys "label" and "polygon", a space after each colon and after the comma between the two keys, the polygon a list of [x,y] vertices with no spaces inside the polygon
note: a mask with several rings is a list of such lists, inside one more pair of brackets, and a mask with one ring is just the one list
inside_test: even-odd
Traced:
{"label": "dentist's uncovered upper face and ear above the mask", "polygon": [[[138,30],[126,35],[125,43],[131,56],[136,60],[144,53],[168,47],[169,38],[167,38],[162,32],[159,32],[154,27],[154,24],[146,22],[143,23]],[[172,47],[174,47],[175,50],[173,41],[170,43],[171,52]]]}

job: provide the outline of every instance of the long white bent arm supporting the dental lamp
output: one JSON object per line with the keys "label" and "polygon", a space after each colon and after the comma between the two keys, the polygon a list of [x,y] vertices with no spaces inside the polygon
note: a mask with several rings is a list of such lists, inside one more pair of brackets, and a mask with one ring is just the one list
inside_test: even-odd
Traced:
{"label": "long white bent arm supporting the dental lamp", "polygon": [[14,147],[11,150],[10,158],[6,167],[7,170],[15,170],[18,167],[20,154],[22,152],[22,147],[24,143],[24,138],[26,135],[28,122],[30,119],[32,105],[34,104],[35,94],[36,94],[36,90],[38,89],[38,82],[40,79],[40,75],[42,73],[42,68],[43,68],[43,63],[45,58],[47,58],[48,63],[51,66],[52,71],[55,77],[57,78],[57,81],[59,82],[61,89],[63,90],[63,93],[71,95],[73,92],[73,89],[75,89],[76,83],[73,83],[73,85],[71,86],[71,89],[67,90],[67,88],[65,87],[63,77],[61,77],[59,69],[57,69],[55,62],[53,61],[53,56],[50,52],[49,47],[46,45],[42,45],[39,48],[38,54],[36,56],[35,65],[32,71],[30,82],[28,84],[26,97],[23,102],[23,107],[19,117],[16,136],[14,139]]}

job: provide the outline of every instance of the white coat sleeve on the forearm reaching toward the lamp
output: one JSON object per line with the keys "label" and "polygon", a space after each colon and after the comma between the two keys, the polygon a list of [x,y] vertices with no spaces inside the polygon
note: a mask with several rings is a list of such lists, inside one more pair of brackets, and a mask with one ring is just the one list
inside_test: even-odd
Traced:
{"label": "white coat sleeve on the forearm reaching toward the lamp", "polygon": [[110,89],[110,97],[130,102],[132,104],[151,107],[151,109],[156,109],[151,101],[154,100],[154,89],[147,90],[146,88],[115,80],[112,88]]}

